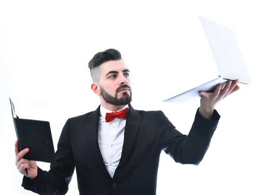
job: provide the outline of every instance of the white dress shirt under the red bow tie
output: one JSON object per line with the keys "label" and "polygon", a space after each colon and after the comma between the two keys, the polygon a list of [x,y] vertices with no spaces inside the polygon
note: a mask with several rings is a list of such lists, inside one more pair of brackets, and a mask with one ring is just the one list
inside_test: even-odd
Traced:
{"label": "white dress shirt under the red bow tie", "polygon": [[[120,110],[127,107],[128,105]],[[112,111],[100,106],[98,142],[105,166],[113,178],[122,154],[126,119],[116,118],[111,122],[106,122],[106,113],[112,113]]]}

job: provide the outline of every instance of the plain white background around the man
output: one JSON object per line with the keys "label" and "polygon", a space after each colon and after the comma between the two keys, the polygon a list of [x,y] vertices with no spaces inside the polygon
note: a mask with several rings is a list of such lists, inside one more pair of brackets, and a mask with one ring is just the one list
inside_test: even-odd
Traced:
{"label": "plain white background around the man", "polygon": [[[88,62],[108,48],[118,49],[131,71],[132,106],[163,110],[189,133],[200,99],[162,99],[218,76],[201,15],[233,29],[253,83],[215,107],[221,119],[199,166],[161,154],[157,194],[255,195],[255,10],[253,0],[1,0],[0,194],[33,194],[20,186],[15,166],[9,97],[20,118],[50,122],[56,150],[67,119],[99,106]],[[68,195],[79,194],[76,172],[69,187]]]}

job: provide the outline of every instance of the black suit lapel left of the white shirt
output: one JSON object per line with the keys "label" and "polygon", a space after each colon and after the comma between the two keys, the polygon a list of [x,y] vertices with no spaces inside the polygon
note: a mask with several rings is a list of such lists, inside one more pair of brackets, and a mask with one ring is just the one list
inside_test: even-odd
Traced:
{"label": "black suit lapel left of the white shirt", "polygon": [[92,155],[92,164],[96,164],[99,171],[102,172],[103,175],[106,177],[111,176],[108,173],[108,170],[104,164],[101,151],[99,149],[99,142],[98,142],[98,130],[99,130],[99,109],[100,106],[88,116],[86,122],[86,144],[88,150],[90,150]]}

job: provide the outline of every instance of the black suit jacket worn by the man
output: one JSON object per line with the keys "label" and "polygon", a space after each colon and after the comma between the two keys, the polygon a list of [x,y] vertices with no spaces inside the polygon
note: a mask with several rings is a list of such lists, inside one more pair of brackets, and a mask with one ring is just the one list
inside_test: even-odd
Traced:
{"label": "black suit jacket worn by the man", "polygon": [[198,108],[189,134],[183,135],[162,111],[134,110],[129,104],[122,155],[112,179],[98,144],[99,108],[67,120],[58,141],[57,164],[48,172],[38,167],[33,181],[24,176],[25,189],[64,195],[76,167],[80,195],[155,195],[161,151],[177,163],[198,165],[220,119],[216,110],[212,120],[205,119]]}

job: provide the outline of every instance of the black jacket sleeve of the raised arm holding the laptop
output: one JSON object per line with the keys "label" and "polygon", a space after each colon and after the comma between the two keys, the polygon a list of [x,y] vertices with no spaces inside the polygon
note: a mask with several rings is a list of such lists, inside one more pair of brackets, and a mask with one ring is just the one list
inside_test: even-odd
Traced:
{"label": "black jacket sleeve of the raised arm holding the laptop", "polygon": [[177,163],[198,165],[208,150],[219,119],[220,115],[216,110],[209,120],[201,116],[198,108],[188,135],[183,135],[176,130],[164,113],[159,111],[158,137],[162,150]]}

